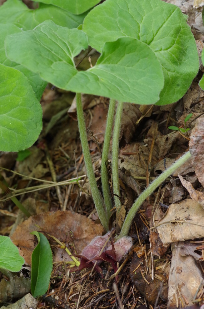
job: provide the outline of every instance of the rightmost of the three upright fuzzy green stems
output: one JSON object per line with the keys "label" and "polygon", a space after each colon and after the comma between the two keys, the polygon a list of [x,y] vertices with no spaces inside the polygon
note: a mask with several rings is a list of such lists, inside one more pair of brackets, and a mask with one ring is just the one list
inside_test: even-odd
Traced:
{"label": "rightmost of the three upright fuzzy green stems", "polygon": [[115,116],[115,125],[113,129],[113,144],[112,144],[112,182],[115,207],[118,210],[121,208],[120,201],[120,185],[118,176],[118,152],[119,152],[119,137],[122,118],[123,102],[118,102]]}

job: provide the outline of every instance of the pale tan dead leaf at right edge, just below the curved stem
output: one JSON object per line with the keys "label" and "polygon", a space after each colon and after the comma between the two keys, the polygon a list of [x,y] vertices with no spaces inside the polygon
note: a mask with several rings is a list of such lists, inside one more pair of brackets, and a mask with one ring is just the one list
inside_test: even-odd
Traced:
{"label": "pale tan dead leaf at right edge, just below the curved stem", "polygon": [[157,213],[154,217],[155,227],[165,246],[177,241],[204,237],[204,210],[192,199],[171,204],[160,221],[157,221],[156,215]]}

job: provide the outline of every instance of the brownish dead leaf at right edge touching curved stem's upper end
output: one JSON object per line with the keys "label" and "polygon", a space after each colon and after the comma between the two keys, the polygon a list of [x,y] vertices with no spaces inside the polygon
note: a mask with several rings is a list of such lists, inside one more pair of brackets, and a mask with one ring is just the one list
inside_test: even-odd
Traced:
{"label": "brownish dead leaf at right edge touching curved stem's upper end", "polygon": [[204,117],[200,117],[193,128],[189,142],[189,150],[192,155],[192,164],[195,168],[198,180],[204,186]]}

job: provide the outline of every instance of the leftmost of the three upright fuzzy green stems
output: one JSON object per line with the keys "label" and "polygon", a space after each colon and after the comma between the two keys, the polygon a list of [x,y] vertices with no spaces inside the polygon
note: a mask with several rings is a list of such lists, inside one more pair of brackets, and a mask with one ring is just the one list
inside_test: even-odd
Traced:
{"label": "leftmost of the three upright fuzzy green stems", "polygon": [[103,208],[102,198],[101,198],[100,192],[97,187],[96,177],[94,174],[91,155],[90,155],[89,146],[88,146],[87,130],[86,130],[86,124],[85,124],[83,108],[82,108],[81,93],[76,93],[76,104],[77,104],[77,119],[78,119],[78,127],[79,127],[80,139],[81,139],[81,144],[82,144],[82,151],[84,155],[84,162],[85,162],[86,169],[87,169],[87,176],[88,176],[88,180],[89,180],[91,191],[92,191],[93,201],[94,201],[97,213],[98,213],[98,217],[102,223],[102,226],[104,227],[106,231],[108,231],[108,218]]}

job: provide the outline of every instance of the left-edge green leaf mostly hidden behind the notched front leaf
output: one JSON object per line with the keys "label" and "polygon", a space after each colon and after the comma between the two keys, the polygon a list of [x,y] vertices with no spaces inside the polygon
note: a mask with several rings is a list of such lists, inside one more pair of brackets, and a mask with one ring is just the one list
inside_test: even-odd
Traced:
{"label": "left-edge green leaf mostly hidden behind the notched front leaf", "polygon": [[[22,32],[22,30],[13,24],[0,24],[0,28],[0,63],[21,71],[28,78],[37,99],[40,101],[47,82],[43,81],[38,74],[28,70],[25,66],[9,60],[5,54],[4,40],[6,36],[12,33]],[[13,48],[15,49],[15,46]]]}

